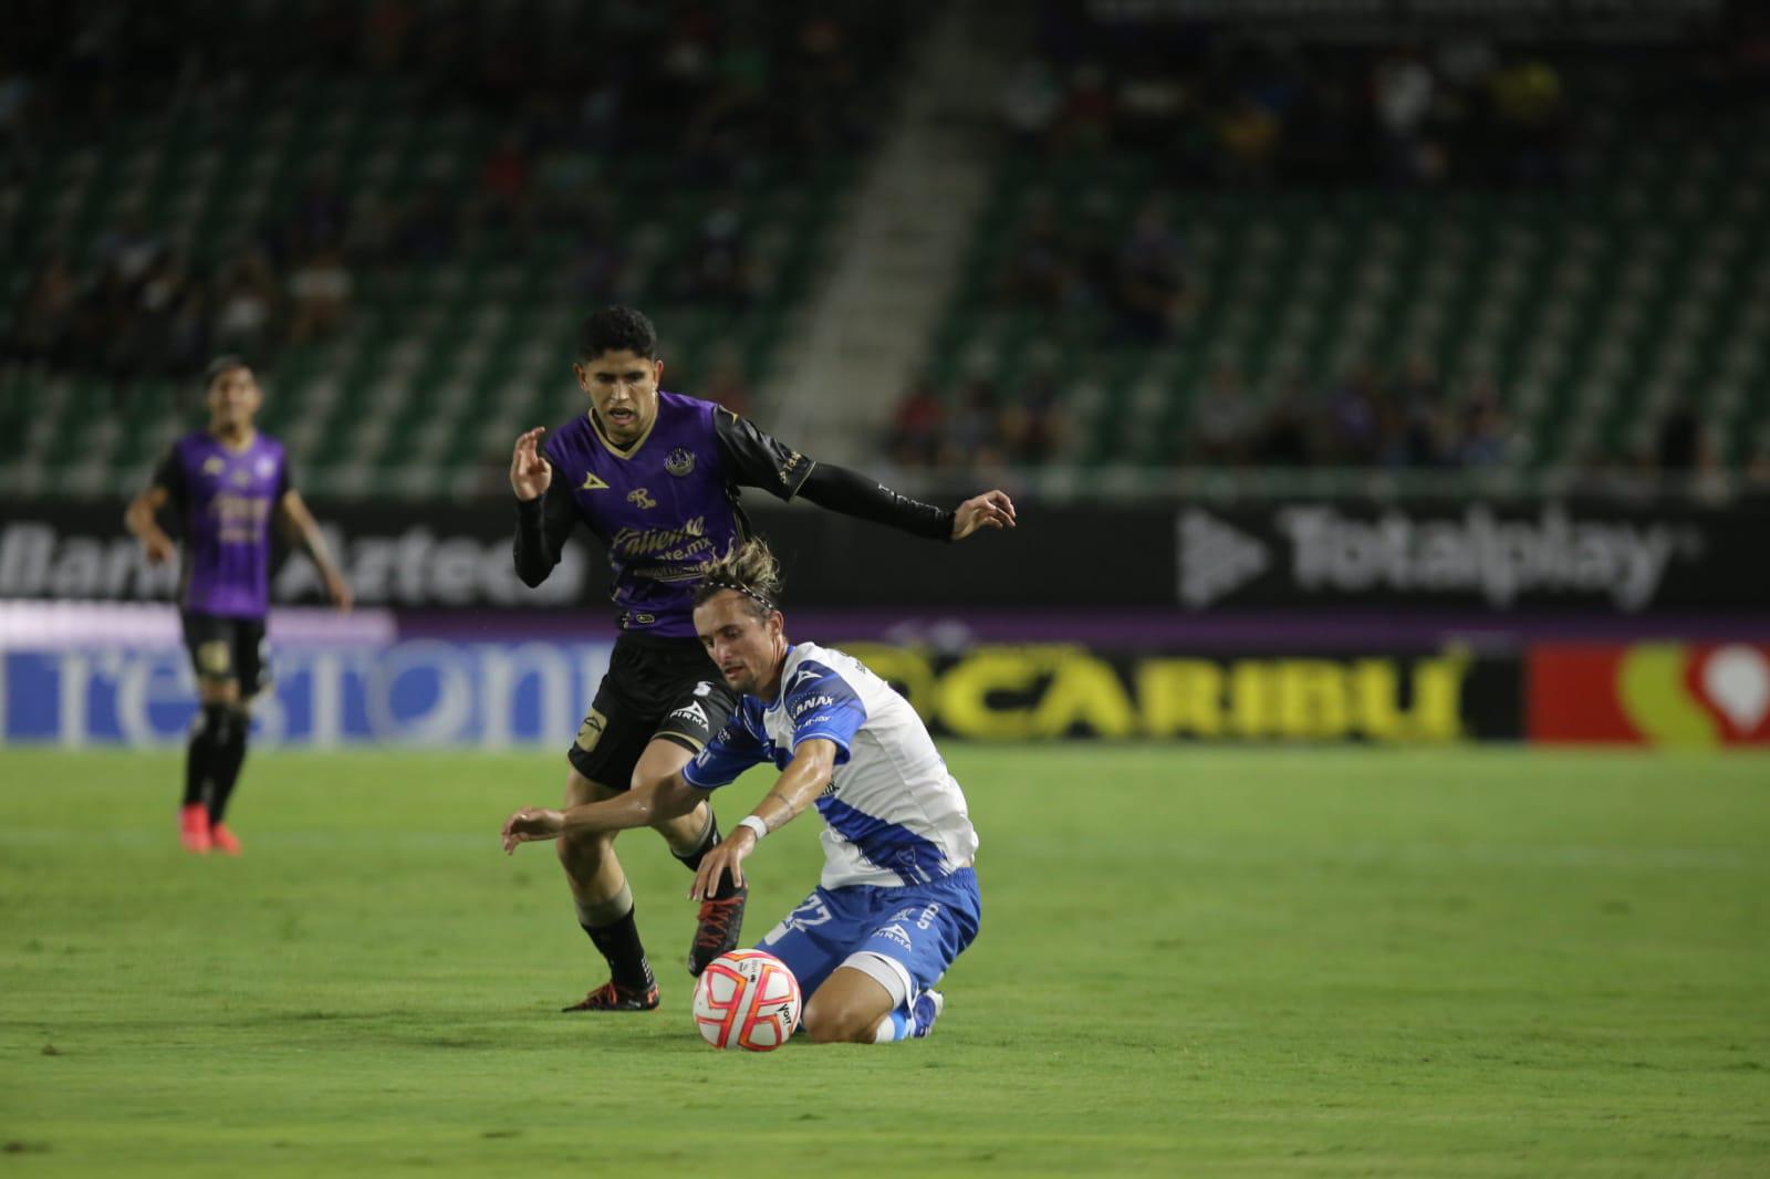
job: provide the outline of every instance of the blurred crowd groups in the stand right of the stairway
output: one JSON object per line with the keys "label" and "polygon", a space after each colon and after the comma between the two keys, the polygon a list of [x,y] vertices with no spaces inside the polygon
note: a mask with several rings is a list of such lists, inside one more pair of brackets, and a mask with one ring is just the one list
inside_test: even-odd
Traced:
{"label": "blurred crowd groups in the stand right of the stairway", "polygon": [[[1165,200],[1177,189],[1577,193],[1591,175],[1588,127],[1703,127],[1770,97],[1763,14],[1740,16],[1738,37],[1667,57],[1597,42],[1522,48],[1473,23],[1430,41],[1306,42],[1248,35],[1232,19],[1149,16],[1161,5],[1048,0],[1039,11],[1035,50],[997,104],[1012,150],[1034,165],[1034,189],[968,310],[1039,317],[1039,335],[1090,359],[1211,347],[1202,324],[1212,292]],[[1050,163],[1087,177],[1090,163],[1122,161],[1142,177],[1127,209],[1122,177],[1083,181],[1092,188],[1080,200],[1037,179]],[[1078,439],[1069,423],[1073,384],[1050,372],[1007,386],[920,381],[885,446],[899,466],[936,471],[1101,460],[1101,439]],[[1104,412],[1127,395],[1108,389]],[[1258,382],[1220,361],[1170,397],[1174,409],[1145,414],[1170,437],[1138,439],[1138,451],[1195,467],[1467,471],[1529,462],[1535,444],[1492,379],[1444,379],[1427,358]],[[1595,482],[1639,487],[1703,482],[1724,450],[1682,405],[1657,423],[1653,444],[1575,458]],[[1749,471],[1770,480],[1770,450],[1759,450]]]}

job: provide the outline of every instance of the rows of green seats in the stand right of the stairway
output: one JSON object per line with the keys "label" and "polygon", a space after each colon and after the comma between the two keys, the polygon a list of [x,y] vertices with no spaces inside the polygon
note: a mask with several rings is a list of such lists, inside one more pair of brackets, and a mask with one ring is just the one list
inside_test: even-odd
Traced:
{"label": "rows of green seats in the stand right of the stairway", "polygon": [[[1740,464],[1770,437],[1770,120],[1708,131],[1600,131],[1561,193],[1202,193],[1163,188],[1147,156],[1009,156],[927,370],[949,397],[972,377],[1012,397],[1060,356],[1085,466],[1184,460],[1218,363],[1260,407],[1292,375],[1320,388],[1411,358],[1492,379],[1522,467],[1641,453],[1682,397]],[[1166,340],[1120,338],[1099,301],[1004,294],[1032,211],[1112,251],[1152,196],[1195,301]]]}

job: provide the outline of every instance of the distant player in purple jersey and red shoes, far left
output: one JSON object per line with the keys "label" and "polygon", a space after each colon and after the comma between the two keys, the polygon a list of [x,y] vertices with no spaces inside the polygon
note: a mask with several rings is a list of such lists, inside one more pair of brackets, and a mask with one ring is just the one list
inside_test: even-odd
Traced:
{"label": "distant player in purple jersey and red shoes, far left", "polygon": [[202,713],[184,759],[179,837],[188,852],[239,855],[239,839],[221,821],[246,761],[251,697],[269,683],[264,616],[271,598],[271,519],[306,551],[338,609],[350,609],[350,586],[326,551],[319,524],[290,487],[283,444],[253,428],[264,393],[237,356],[209,365],[209,428],[186,434],[154,469],[147,490],[129,503],[124,522],[152,565],[175,545],[154,519],[173,505],[184,524],[179,616],[196,671]]}

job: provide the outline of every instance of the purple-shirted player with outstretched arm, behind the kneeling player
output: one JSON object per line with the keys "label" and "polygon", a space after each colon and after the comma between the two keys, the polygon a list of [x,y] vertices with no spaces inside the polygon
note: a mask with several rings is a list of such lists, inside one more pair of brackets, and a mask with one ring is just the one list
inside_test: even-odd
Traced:
{"label": "purple-shirted player with outstretched arm, behind the kneeling player", "polygon": [[[706,568],[749,536],[740,487],[811,503],[927,536],[963,540],[1012,528],[1014,505],[989,490],[954,510],[917,503],[843,467],[818,464],[712,402],[658,389],[651,320],[611,306],[584,319],[572,365],[589,412],[542,441],[517,439],[517,574],[538,586],[579,524],[609,551],[621,637],[589,715],[566,752],[565,804],[651,790],[719,733],[736,692],[717,674],[694,628],[694,591]],[[704,802],[651,825],[689,871],[719,846]],[[609,981],[566,1011],[650,1011],[657,979],[634,922],[634,896],[614,857],[614,832],[558,841],[577,921],[609,963]],[[745,889],[724,876],[701,901],[689,949],[699,974],[738,944]]]}

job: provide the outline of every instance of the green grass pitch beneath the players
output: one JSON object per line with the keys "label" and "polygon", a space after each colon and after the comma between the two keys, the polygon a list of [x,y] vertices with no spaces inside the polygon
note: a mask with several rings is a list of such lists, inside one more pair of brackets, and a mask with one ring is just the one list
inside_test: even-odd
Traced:
{"label": "green grass pitch beneath the players", "polygon": [[1770,1174],[1770,759],[947,752],[984,926],[935,1036],[749,1055],[650,832],[664,1007],[558,1014],[602,972],[496,839],[554,756],[255,754],[227,860],[175,752],[0,751],[0,1172]]}

